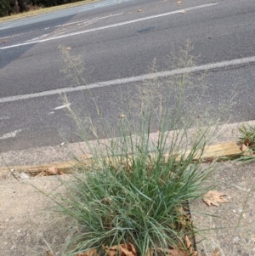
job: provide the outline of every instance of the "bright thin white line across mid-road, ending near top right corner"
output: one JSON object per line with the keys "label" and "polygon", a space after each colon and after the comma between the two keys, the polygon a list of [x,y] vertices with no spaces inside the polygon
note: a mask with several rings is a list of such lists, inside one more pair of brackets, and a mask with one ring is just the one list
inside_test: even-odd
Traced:
{"label": "bright thin white line across mid-road, ending near top right corner", "polygon": [[100,27],[89,29],[89,30],[86,30],[86,31],[77,31],[77,32],[73,32],[73,33],[69,33],[69,34],[65,34],[65,35],[61,35],[61,36],[57,36],[57,37],[48,37],[48,38],[33,41],[33,42],[18,43],[18,44],[2,47],[0,49],[15,48],[15,47],[28,45],[28,44],[32,44],[32,43],[48,42],[48,41],[52,41],[52,40],[56,40],[56,39],[60,39],[60,38],[64,38],[64,37],[73,37],[73,36],[82,35],[82,34],[85,34],[85,33],[88,33],[88,32],[101,31],[101,30],[116,27],[116,26],[123,26],[123,25],[132,24],[132,23],[139,22],[139,21],[156,19],[156,18],[160,18],[160,17],[163,17],[163,16],[171,15],[171,14],[180,14],[180,13],[183,13],[184,11],[187,12],[187,11],[191,11],[191,10],[195,10],[195,9],[202,9],[202,8],[212,7],[212,6],[217,5],[217,4],[218,3],[203,4],[203,5],[199,5],[199,6],[195,6],[195,7],[190,7],[190,8],[187,8],[187,9],[176,10],[176,11],[169,12],[169,13],[156,14],[156,15],[152,15],[152,16],[148,16],[148,17],[144,17],[144,18],[140,18],[140,19],[136,19],[136,20],[128,20],[128,21],[124,21],[124,22],[120,22],[120,23],[116,23],[116,24],[112,24],[112,25],[108,25],[108,26],[100,26]]}

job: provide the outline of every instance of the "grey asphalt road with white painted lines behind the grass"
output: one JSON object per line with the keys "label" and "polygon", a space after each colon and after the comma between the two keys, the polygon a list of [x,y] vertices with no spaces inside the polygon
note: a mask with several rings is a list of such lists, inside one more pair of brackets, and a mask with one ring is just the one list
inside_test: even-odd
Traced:
{"label": "grey asphalt road with white painted lines behind the grass", "polygon": [[[105,0],[0,23],[0,151],[81,140],[64,94],[82,121],[89,116],[102,129],[86,88],[115,127],[122,104],[139,103],[137,86],[151,72],[161,95],[173,75],[190,72],[183,109],[190,117],[207,109],[223,122],[254,120],[254,25],[253,0]],[[197,58],[180,70],[173,54],[187,41]],[[60,48],[84,80],[71,77]]]}

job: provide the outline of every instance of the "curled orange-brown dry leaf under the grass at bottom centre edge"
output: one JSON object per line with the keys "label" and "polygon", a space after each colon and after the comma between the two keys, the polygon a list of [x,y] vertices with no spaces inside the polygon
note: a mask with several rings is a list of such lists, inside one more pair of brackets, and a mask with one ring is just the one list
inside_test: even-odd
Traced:
{"label": "curled orange-brown dry leaf under the grass at bottom centre edge", "polygon": [[135,248],[131,243],[120,244],[119,246],[104,247],[107,256],[136,256]]}

